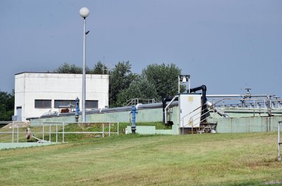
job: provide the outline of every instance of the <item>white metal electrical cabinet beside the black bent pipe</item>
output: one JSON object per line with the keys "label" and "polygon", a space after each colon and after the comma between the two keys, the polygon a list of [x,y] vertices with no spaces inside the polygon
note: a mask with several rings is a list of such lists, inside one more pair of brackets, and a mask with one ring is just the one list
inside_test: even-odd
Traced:
{"label": "white metal electrical cabinet beside the black bent pipe", "polygon": [[202,94],[179,94],[178,109],[180,128],[200,127]]}

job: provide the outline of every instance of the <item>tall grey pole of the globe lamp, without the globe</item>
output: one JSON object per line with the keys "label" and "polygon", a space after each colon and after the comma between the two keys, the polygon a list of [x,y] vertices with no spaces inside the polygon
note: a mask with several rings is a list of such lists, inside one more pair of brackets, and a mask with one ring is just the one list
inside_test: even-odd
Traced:
{"label": "tall grey pole of the globe lamp, without the globe", "polygon": [[82,122],[85,122],[85,18],[83,18]]}

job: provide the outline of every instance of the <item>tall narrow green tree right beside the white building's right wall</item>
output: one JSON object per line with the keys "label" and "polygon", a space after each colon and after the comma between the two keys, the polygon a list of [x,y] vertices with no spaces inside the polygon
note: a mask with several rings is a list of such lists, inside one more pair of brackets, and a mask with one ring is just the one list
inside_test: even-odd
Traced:
{"label": "tall narrow green tree right beside the white building's right wall", "polygon": [[130,82],[137,80],[138,75],[131,72],[131,65],[129,61],[121,62],[119,61],[115,68],[111,71],[111,83],[110,83],[110,105],[121,106],[117,101],[117,96],[119,92],[123,89],[127,89]]}

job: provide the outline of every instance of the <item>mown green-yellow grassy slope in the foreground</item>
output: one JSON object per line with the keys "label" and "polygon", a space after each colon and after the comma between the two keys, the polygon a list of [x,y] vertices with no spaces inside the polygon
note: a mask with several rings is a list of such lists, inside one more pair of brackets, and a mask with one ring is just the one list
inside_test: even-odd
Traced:
{"label": "mown green-yellow grassy slope in the foreground", "polygon": [[1,185],[282,182],[276,134],[123,135],[0,151]]}

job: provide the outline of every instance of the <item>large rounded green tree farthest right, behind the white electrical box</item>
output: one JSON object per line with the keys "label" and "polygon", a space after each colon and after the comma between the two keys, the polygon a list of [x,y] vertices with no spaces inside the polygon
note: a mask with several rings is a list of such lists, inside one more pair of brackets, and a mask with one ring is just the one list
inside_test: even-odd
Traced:
{"label": "large rounded green tree farthest right, behind the white electrical box", "polygon": [[173,63],[167,66],[164,63],[161,65],[155,63],[142,70],[142,77],[146,77],[156,87],[159,97],[164,98],[178,93],[178,75],[180,73],[180,68]]}

